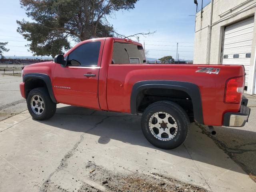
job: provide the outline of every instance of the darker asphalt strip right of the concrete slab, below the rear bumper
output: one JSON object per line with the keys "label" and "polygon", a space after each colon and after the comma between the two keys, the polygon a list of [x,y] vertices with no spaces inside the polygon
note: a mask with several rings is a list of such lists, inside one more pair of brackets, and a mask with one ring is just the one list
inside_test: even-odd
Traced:
{"label": "darker asphalt strip right of the concrete slab, below the rear bumper", "polygon": [[[214,127],[216,135],[209,135],[256,182],[256,96],[244,94],[251,108],[244,127]],[[204,130],[207,128],[204,126]]]}

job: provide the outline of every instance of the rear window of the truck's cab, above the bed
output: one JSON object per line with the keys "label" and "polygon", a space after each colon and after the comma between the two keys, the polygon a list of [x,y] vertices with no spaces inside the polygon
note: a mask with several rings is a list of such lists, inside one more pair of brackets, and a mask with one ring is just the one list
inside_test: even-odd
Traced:
{"label": "rear window of the truck's cab, above the bed", "polygon": [[114,42],[112,64],[146,64],[145,53],[140,45]]}

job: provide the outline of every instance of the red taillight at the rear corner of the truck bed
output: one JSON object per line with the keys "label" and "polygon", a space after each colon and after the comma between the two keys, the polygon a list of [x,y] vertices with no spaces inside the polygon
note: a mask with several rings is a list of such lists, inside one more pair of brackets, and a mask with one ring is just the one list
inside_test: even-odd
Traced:
{"label": "red taillight at the rear corner of the truck bed", "polygon": [[226,82],[225,103],[240,103],[244,92],[244,76],[234,77]]}

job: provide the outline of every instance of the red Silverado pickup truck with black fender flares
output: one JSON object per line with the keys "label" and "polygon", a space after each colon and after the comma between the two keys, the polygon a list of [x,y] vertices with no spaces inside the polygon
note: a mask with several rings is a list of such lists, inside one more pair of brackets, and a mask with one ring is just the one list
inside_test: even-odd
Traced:
{"label": "red Silverado pickup truck with black fender flares", "polygon": [[140,43],[108,37],[26,66],[20,92],[36,120],[51,118],[58,103],[142,114],[148,141],[171,149],[186,140],[190,122],[244,126],[244,77],[242,65],[146,64]]}

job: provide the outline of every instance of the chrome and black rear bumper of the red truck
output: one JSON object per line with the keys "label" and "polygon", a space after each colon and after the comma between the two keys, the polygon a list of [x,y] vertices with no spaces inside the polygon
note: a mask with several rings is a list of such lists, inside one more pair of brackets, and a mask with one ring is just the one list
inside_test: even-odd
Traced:
{"label": "chrome and black rear bumper of the red truck", "polygon": [[227,112],[224,114],[223,126],[243,127],[250,116],[251,109],[247,107],[248,100],[243,97],[240,111],[237,113]]}

